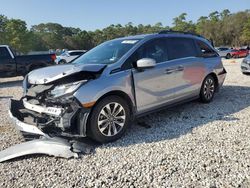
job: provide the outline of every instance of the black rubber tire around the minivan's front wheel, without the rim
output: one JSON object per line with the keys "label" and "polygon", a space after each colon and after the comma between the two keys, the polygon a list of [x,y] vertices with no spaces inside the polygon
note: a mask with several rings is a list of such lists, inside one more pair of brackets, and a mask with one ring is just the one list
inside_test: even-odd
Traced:
{"label": "black rubber tire around the minivan's front wheel, without the rim", "polygon": [[[117,102],[124,108],[125,114],[126,114],[126,119],[125,119],[123,129],[117,135],[112,136],[112,137],[108,137],[108,136],[103,135],[100,132],[97,122],[98,122],[98,117],[99,117],[100,111],[103,109],[104,106],[106,106],[107,104],[112,103],[112,102]],[[87,126],[88,130],[87,131],[89,132],[89,136],[92,139],[96,140],[97,142],[100,142],[100,143],[113,142],[113,141],[116,141],[117,139],[119,139],[123,136],[126,129],[128,128],[130,120],[131,120],[130,110],[129,110],[129,106],[126,103],[126,101],[118,96],[108,96],[108,97],[105,97],[104,99],[102,99],[100,102],[98,102],[94,106],[94,108],[92,109],[92,111],[90,113],[90,118],[88,121],[88,126]]]}

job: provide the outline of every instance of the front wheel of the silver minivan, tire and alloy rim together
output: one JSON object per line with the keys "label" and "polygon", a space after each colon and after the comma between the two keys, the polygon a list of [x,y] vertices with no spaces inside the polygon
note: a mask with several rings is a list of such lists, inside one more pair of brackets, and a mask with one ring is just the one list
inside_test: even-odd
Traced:
{"label": "front wheel of the silver minivan, tire and alloy rim together", "polygon": [[[115,108],[115,105],[120,105]],[[107,117],[107,112],[109,106],[110,111],[113,111],[113,113],[110,113],[109,117]],[[112,109],[113,107],[113,109]],[[120,113],[119,110],[123,109]],[[114,114],[118,113],[117,116]],[[125,119],[122,119],[125,115]],[[112,116],[112,117],[111,117]],[[119,122],[118,119],[119,118]],[[120,126],[117,123],[123,124],[123,126]],[[94,106],[92,109],[92,112],[90,114],[90,118],[88,121],[88,130],[89,130],[89,136],[100,143],[107,143],[107,142],[113,142],[117,139],[121,138],[123,134],[125,133],[126,129],[128,128],[129,122],[130,122],[130,110],[127,102],[118,96],[108,96],[104,99],[102,99],[100,102]],[[101,123],[101,122],[104,123]],[[115,128],[113,127],[115,126]],[[106,128],[105,128],[106,127]],[[105,129],[104,129],[105,128]],[[101,130],[102,129],[102,130]],[[115,130],[117,133],[115,134]],[[110,131],[110,132],[109,132]],[[113,135],[112,135],[113,134]]]}

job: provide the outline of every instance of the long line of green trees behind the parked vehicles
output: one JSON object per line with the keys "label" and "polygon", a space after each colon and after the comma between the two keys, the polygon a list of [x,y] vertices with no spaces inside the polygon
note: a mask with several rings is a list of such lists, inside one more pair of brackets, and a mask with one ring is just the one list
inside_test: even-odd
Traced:
{"label": "long line of green trees behind the parked vehicles", "polygon": [[201,16],[196,23],[187,20],[182,13],[173,19],[173,26],[155,25],[110,25],[102,30],[85,31],[64,27],[57,23],[34,25],[30,30],[19,19],[8,19],[0,15],[0,44],[8,44],[20,52],[48,49],[86,49],[118,37],[157,33],[161,30],[196,32],[212,39],[217,46],[240,46],[250,43],[250,10],[230,13],[228,9],[208,16]]}

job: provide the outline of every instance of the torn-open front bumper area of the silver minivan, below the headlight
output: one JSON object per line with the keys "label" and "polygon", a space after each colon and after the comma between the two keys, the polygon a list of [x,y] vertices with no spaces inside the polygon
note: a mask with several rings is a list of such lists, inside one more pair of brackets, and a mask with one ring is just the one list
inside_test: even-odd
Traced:
{"label": "torn-open front bumper area of the silver minivan, below the headlight", "polygon": [[81,117],[88,114],[89,109],[82,108],[74,98],[39,103],[26,96],[10,103],[10,117],[24,135],[84,137],[86,131],[79,128],[86,126]]}

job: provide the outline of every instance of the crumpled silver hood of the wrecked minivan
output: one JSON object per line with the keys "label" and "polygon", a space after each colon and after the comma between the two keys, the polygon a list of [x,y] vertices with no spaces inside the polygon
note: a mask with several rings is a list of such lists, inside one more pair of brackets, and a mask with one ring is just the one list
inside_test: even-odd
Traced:
{"label": "crumpled silver hood of the wrecked minivan", "polygon": [[48,84],[58,79],[67,77],[69,75],[79,72],[93,72],[98,73],[102,71],[106,65],[101,64],[83,64],[83,65],[57,65],[46,68],[41,68],[32,71],[28,74],[28,82],[30,84]]}

